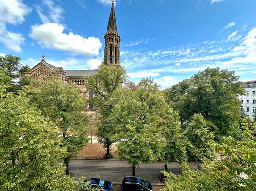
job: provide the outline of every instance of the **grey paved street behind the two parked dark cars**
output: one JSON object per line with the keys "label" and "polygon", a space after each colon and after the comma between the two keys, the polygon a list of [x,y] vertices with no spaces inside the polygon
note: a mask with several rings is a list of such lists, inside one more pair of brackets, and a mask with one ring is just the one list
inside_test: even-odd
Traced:
{"label": "grey paved street behind the two parked dark cars", "polygon": [[[136,168],[136,176],[150,183],[162,183],[158,174],[164,170],[164,162],[149,163]],[[181,174],[181,169],[170,169],[175,174]],[[76,173],[75,181],[83,174],[87,178],[102,178],[111,182],[122,182],[124,176],[131,176],[132,166],[125,160],[83,160],[72,159],[69,171]]]}

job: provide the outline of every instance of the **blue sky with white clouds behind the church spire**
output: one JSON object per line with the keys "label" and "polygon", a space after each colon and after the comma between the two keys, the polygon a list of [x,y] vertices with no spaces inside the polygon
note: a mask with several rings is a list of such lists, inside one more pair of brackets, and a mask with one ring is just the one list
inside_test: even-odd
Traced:
{"label": "blue sky with white clouds behind the church spire", "polygon": [[[0,55],[95,69],[111,0],[0,0]],[[206,67],[256,79],[256,0],[116,0],[121,65],[163,88]]]}

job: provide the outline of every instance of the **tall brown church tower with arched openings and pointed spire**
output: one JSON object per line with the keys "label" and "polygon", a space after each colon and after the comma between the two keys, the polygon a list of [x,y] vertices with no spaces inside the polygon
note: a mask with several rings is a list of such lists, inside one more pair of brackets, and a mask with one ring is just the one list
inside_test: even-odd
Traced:
{"label": "tall brown church tower with arched openings and pointed spire", "polygon": [[107,25],[107,32],[104,35],[104,64],[107,66],[120,66],[120,35],[117,31],[114,0]]}

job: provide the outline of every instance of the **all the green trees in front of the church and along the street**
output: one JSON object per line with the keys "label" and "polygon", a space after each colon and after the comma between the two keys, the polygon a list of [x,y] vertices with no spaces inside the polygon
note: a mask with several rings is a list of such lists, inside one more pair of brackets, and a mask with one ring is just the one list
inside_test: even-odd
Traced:
{"label": "all the green trees in front of the church and along the street", "polygon": [[[70,157],[88,141],[82,95],[73,84],[61,84],[57,78],[33,81],[23,72],[18,57],[0,57],[1,189],[61,190],[65,185],[63,190],[72,190],[74,181],[63,171],[69,173]],[[85,85],[94,93],[89,102],[98,109],[97,136],[106,157],[117,142],[117,153],[132,164],[133,176],[141,163],[194,160],[198,168],[204,161],[205,172],[183,164],[182,176],[166,175],[167,189],[189,190],[185,180],[206,178],[216,186],[213,181],[219,179],[207,173],[224,178],[226,171],[236,172],[227,176],[233,184],[255,187],[255,126],[248,119],[241,123],[237,94],[244,89],[234,72],[206,69],[160,91],[151,78],[135,85],[123,68],[102,65]],[[215,160],[214,152],[222,154],[221,160]],[[238,178],[239,172],[249,176],[248,184]],[[190,190],[206,190],[202,182]],[[223,190],[232,190],[227,188],[233,187]]]}

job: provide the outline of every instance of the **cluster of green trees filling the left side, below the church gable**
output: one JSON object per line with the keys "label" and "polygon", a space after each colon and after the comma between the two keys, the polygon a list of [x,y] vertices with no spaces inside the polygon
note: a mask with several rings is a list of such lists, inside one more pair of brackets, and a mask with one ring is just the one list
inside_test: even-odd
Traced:
{"label": "cluster of green trees filling the left side, below the church gable", "polygon": [[25,69],[19,57],[0,57],[0,190],[74,191],[64,171],[88,141],[83,96],[57,78],[34,81]]}

